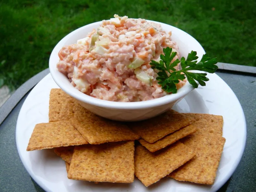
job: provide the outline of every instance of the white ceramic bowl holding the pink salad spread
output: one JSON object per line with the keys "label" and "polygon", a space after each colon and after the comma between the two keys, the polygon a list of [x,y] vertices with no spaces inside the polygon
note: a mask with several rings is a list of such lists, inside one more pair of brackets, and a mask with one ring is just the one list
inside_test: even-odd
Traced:
{"label": "white ceramic bowl holding the pink salad spread", "polygon": [[[139,121],[159,115],[169,108],[172,108],[176,102],[179,102],[184,96],[194,89],[192,85],[187,82],[186,85],[179,89],[176,94],[170,94],[158,99],[139,102],[100,100],[78,91],[70,84],[68,78],[57,70],[56,64],[59,61],[58,52],[64,45],[75,44],[78,39],[84,38],[92,31],[93,28],[97,29],[100,24],[101,21],[95,22],[69,33],[54,47],[49,60],[50,72],[56,84],[64,92],[77,99],[84,108],[99,116],[112,120]],[[164,23],[160,24],[166,32],[172,31],[172,40],[177,42],[181,57],[184,56],[186,58],[188,53],[193,50],[197,52],[197,56],[201,59],[205,52],[196,39],[178,28]]]}

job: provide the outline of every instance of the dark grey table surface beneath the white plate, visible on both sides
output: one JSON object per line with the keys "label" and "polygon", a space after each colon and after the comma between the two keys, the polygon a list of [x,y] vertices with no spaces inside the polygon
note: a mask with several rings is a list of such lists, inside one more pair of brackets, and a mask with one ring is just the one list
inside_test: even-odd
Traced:
{"label": "dark grey table surface beneath the white plate, visible on both sides", "polygon": [[[1,117],[4,120],[3,117],[9,114],[0,125],[1,192],[44,192],[21,163],[16,148],[15,127],[20,108],[31,88],[48,73],[49,69],[46,69],[31,78],[0,108],[0,123]],[[234,174],[218,192],[254,192],[256,191],[256,76],[226,71],[217,72],[217,75],[235,92],[244,109],[247,125],[247,140],[242,160]]]}

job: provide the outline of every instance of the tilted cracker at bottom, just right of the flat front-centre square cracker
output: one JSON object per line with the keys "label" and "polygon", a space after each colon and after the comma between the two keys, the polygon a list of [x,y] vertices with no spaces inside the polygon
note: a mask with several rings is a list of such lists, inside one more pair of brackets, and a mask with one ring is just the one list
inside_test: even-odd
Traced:
{"label": "tilted cracker at bottom, just right of the flat front-centre square cracker", "polygon": [[146,186],[157,182],[195,156],[193,150],[180,141],[151,153],[141,145],[135,148],[135,175]]}

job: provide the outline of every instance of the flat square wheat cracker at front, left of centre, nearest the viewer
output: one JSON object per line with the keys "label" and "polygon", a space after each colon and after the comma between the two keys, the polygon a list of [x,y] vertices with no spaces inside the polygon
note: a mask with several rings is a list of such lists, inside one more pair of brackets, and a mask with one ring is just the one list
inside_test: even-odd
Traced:
{"label": "flat square wheat cracker at front, left of centre, nearest the viewer", "polygon": [[68,178],[95,182],[132,183],[134,141],[76,146]]}

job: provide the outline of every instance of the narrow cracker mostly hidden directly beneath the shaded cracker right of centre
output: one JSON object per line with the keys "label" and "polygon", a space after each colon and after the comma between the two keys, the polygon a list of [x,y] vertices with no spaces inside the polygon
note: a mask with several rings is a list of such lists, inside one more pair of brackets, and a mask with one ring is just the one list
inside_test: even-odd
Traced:
{"label": "narrow cracker mostly hidden directly beneath the shaded cracker right of centre", "polygon": [[154,143],[149,143],[144,139],[140,139],[139,141],[140,144],[147,148],[150,152],[155,152],[157,150],[167,147],[168,145],[171,145],[177,140],[180,140],[181,138],[184,138],[194,132],[196,132],[196,127],[190,124],[184,128],[179,129],[176,132],[171,133],[170,135],[165,136],[164,138]]}

